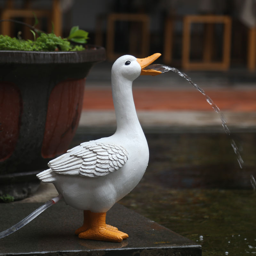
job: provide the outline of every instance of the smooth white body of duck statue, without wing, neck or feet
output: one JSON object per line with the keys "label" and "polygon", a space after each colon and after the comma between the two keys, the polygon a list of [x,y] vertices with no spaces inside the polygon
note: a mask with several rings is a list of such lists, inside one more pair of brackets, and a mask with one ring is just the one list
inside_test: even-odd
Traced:
{"label": "smooth white body of duck statue, without wing, neck or feet", "polygon": [[[74,148],[73,151],[78,149],[82,151],[85,146],[104,144],[113,145],[116,148],[122,144],[128,152],[128,159],[123,167],[106,176],[93,178],[81,175],[54,176],[52,183],[63,195],[66,204],[91,212],[107,212],[117,201],[127,195],[141,180],[149,157],[145,136],[141,138],[138,134],[133,137],[132,141],[120,143],[120,136],[115,133],[108,138],[82,143],[78,148]],[[67,154],[72,154],[72,150]],[[144,156],[143,159],[138,157],[141,154]]]}

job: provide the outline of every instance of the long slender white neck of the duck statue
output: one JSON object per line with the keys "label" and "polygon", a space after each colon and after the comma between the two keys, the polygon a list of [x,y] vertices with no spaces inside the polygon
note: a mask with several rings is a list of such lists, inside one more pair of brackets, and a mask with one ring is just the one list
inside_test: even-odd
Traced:
{"label": "long slender white neck of the duck statue", "polygon": [[112,95],[116,112],[117,133],[142,131],[132,96],[132,81],[112,76]]}

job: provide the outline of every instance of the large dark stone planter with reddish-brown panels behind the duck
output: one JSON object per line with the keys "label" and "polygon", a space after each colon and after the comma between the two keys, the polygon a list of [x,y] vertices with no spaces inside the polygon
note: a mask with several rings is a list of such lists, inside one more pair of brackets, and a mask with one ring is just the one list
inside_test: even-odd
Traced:
{"label": "large dark stone planter with reddish-brown panels behind the duck", "polygon": [[36,173],[65,153],[82,110],[85,77],[105,49],[0,51],[0,196],[22,199]]}

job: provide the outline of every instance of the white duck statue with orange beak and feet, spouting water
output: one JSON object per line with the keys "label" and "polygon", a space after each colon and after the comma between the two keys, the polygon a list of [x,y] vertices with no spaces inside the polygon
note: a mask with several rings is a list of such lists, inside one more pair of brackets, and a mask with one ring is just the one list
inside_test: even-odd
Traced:
{"label": "white duck statue with orange beak and feet, spouting water", "polygon": [[84,210],[83,226],[75,232],[80,238],[111,242],[128,238],[106,224],[106,212],[139,183],[148,166],[148,144],[136,114],[132,82],[140,75],[161,74],[144,70],[160,55],[118,58],[111,70],[116,132],[69,149],[49,162],[50,169],[37,174],[41,181],[54,184],[66,204]]}

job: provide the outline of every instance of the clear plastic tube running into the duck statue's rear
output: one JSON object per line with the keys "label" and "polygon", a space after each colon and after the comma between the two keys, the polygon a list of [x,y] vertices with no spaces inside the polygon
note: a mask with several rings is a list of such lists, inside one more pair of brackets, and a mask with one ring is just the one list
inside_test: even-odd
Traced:
{"label": "clear plastic tube running into the duck statue's rear", "polygon": [[0,233],[0,239],[12,234],[13,232],[17,231],[18,229],[24,227],[26,224],[28,224],[31,220],[34,220],[40,213],[44,212],[47,208],[52,206],[53,204],[56,204],[62,199],[63,196],[60,194],[57,197],[52,198],[51,200],[47,201],[45,204],[41,205],[39,208],[37,208],[34,212],[30,213],[25,219],[21,220],[17,224],[13,225],[11,228],[8,228]]}

